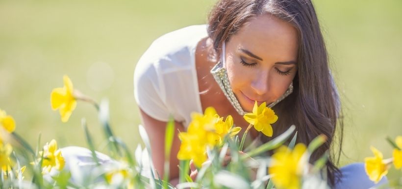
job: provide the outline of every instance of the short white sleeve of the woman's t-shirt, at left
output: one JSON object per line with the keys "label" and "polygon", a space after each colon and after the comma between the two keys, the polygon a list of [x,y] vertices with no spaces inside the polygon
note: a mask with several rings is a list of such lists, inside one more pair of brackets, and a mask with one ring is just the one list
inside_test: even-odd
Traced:
{"label": "short white sleeve of the woman's t-shirt, at left", "polygon": [[162,76],[153,63],[137,63],[134,71],[134,98],[139,108],[159,121],[169,120]]}

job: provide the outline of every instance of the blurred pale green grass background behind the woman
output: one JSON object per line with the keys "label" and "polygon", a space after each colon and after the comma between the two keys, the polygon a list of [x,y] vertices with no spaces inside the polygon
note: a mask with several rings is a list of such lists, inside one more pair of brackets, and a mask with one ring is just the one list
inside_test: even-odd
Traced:
{"label": "blurred pale green grass background behind the woman", "polygon": [[[0,108],[30,144],[58,140],[87,147],[87,118],[102,151],[96,110],[78,102],[69,122],[50,108],[50,91],[67,74],[75,88],[110,101],[111,122],[131,149],[140,142],[134,67],[160,35],[204,24],[215,0],[0,0]],[[314,0],[342,96],[341,165],[391,157],[384,138],[402,135],[402,1]]]}

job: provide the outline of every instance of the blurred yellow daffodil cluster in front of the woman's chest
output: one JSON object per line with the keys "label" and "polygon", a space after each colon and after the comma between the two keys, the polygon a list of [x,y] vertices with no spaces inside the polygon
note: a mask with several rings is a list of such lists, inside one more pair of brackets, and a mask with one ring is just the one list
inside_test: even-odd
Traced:
{"label": "blurred yellow daffodil cluster in front of the woman's chest", "polygon": [[207,148],[222,144],[226,135],[233,137],[241,130],[240,127],[233,128],[231,116],[223,121],[212,107],[206,108],[204,114],[193,113],[191,117],[187,132],[178,135],[181,145],[177,159],[193,160],[198,167],[207,160]]}

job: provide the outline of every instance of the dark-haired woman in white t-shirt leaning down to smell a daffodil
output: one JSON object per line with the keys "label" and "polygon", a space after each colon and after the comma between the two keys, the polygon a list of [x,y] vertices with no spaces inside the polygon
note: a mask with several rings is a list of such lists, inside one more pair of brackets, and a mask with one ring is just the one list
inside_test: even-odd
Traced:
{"label": "dark-haired woman in white t-shirt leaning down to smell a daffodil", "polygon": [[[312,161],[331,152],[327,162],[331,186],[373,185],[362,164],[341,170],[335,166],[332,152],[340,151],[342,144],[340,104],[310,0],[220,0],[207,26],[185,27],[152,43],[137,63],[134,93],[159,173],[164,169],[164,135],[170,115],[176,128],[185,131],[191,112],[212,106],[220,116],[232,115],[234,124],[244,128],[248,123],[243,114],[257,101],[266,102],[279,117],[273,137],[293,124],[298,142],[308,144],[317,135],[327,136]],[[332,149],[336,131],[340,131],[339,142]],[[251,137],[270,139],[255,131]],[[175,137],[170,157],[172,182],[178,178],[179,145]],[[192,175],[196,173],[192,168]],[[356,179],[358,186],[354,186]]]}

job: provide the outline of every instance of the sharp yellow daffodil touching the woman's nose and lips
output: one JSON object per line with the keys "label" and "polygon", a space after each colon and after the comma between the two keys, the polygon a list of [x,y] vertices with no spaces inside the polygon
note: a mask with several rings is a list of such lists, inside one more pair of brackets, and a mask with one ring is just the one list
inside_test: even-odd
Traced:
{"label": "sharp yellow daffodil touching the woman's nose and lips", "polygon": [[264,135],[272,136],[273,130],[271,124],[278,119],[274,110],[266,107],[265,102],[258,106],[255,101],[252,113],[246,113],[244,119],[254,126],[255,130],[262,132]]}

